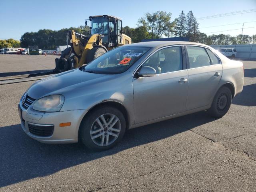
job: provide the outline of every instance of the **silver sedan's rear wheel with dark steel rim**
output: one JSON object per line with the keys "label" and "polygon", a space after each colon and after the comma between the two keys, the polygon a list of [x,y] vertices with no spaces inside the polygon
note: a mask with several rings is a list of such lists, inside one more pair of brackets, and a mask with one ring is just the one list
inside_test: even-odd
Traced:
{"label": "silver sedan's rear wheel with dark steel rim", "polygon": [[214,96],[212,106],[208,109],[208,112],[213,117],[221,118],[228,112],[231,102],[232,93],[229,88],[224,86]]}

